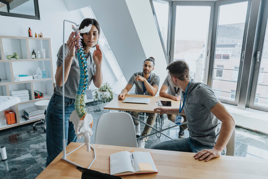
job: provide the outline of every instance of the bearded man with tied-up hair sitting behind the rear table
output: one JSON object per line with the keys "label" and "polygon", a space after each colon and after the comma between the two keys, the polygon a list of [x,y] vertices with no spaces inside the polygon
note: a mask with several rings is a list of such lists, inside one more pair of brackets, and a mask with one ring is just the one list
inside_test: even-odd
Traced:
{"label": "bearded man with tied-up hair sitting behind the rear table", "polygon": [[[157,75],[151,73],[154,70],[154,58],[149,57],[143,62],[143,72],[137,72],[134,73],[134,75],[130,78],[128,84],[126,87],[121,91],[121,93],[118,95],[118,99],[122,100],[125,98],[125,95],[130,91],[130,89],[135,84],[135,94],[143,94],[143,95],[155,95],[158,91],[159,82],[160,79]],[[131,112],[131,115],[133,115],[136,118],[139,118],[138,116],[139,112]],[[154,125],[155,119],[156,119],[157,113],[148,113],[148,118],[146,123],[150,126]],[[138,120],[133,119],[135,124],[135,130],[136,130],[136,136],[139,137],[140,135],[140,123]],[[150,134],[151,128],[146,126],[143,129],[143,132],[141,136],[145,136]],[[148,137],[144,137],[138,141],[138,147],[144,148],[145,147],[145,141],[147,141]]]}

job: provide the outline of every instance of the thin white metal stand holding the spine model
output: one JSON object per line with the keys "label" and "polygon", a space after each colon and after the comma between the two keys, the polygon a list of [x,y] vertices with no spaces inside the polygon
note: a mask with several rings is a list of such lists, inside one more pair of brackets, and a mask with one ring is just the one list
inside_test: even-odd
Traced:
{"label": "thin white metal stand holding the spine model", "polygon": [[[75,23],[75,22],[72,22],[72,21],[69,21],[69,20],[64,20],[64,26],[63,26],[63,160],[67,161],[68,163],[72,164],[72,165],[75,165],[75,166],[78,166],[78,167],[82,167],[82,166],[79,166],[78,164],[75,164],[74,162],[71,162],[69,160],[67,160],[67,156],[73,152],[75,152],[77,149],[81,148],[82,146],[84,146],[85,144],[81,145],[80,147],[74,149],[73,151],[71,151],[70,153],[68,153],[66,155],[66,140],[65,140],[65,80],[64,80],[64,68],[65,68],[65,59],[64,59],[64,54],[65,54],[65,38],[64,38],[64,35],[65,35],[65,22],[70,22],[70,23],[73,23],[75,24],[76,27],[78,27],[78,25]],[[89,165],[89,167],[87,169],[89,169],[91,167],[91,165],[93,164],[93,162],[95,161],[96,159],[96,153],[95,153],[95,149],[90,145],[90,148],[93,150],[94,152],[94,159],[93,161],[91,162],[91,164]],[[83,168],[83,167],[82,167]]]}

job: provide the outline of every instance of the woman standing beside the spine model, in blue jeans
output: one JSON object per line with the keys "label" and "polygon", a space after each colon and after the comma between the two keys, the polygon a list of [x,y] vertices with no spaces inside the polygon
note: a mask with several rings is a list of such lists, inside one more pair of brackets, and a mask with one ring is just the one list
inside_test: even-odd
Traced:
{"label": "woman standing beside the spine model, in blue jeans", "polygon": [[[97,20],[84,19],[79,29],[92,25],[87,33],[81,33],[83,37],[82,45],[87,59],[88,86],[93,80],[94,85],[99,88],[102,84],[102,52],[98,44],[100,36],[100,26]],[[47,152],[48,166],[63,151],[63,130],[65,130],[67,145],[70,142],[76,142],[77,137],[73,129],[69,116],[74,108],[75,94],[78,89],[80,79],[80,68],[77,55],[75,53],[76,38],[72,32],[65,44],[65,57],[63,58],[63,46],[59,49],[57,60],[57,71],[55,75],[56,87],[52,95],[46,114],[47,125]],[[92,47],[96,47],[93,55],[89,52]],[[93,60],[92,60],[93,58]],[[63,59],[65,59],[65,129],[63,129]]]}

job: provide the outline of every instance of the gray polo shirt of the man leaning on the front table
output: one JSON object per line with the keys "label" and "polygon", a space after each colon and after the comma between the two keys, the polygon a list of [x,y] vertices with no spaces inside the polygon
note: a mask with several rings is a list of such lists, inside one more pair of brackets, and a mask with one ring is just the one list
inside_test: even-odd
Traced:
{"label": "gray polo shirt of the man leaning on the front table", "polygon": [[[183,92],[184,96],[185,92]],[[221,128],[221,121],[210,111],[219,102],[207,85],[192,81],[188,87],[184,112],[190,137],[203,145],[214,146]]]}

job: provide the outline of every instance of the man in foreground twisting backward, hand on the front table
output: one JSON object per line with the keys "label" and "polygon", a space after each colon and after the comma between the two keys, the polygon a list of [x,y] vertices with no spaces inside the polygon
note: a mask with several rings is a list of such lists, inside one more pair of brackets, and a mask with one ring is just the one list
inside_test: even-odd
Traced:
{"label": "man in foreground twisting backward, hand on the front table", "polygon": [[[172,62],[168,67],[170,81],[182,89],[184,113],[188,121],[189,138],[165,141],[153,149],[195,152],[195,159],[205,160],[225,155],[235,122],[225,107],[216,98],[212,89],[189,78],[189,67],[185,61]],[[183,102],[182,102],[183,106]],[[178,106],[179,107],[179,106]],[[154,110],[160,114],[181,111],[182,108],[162,108]]]}

